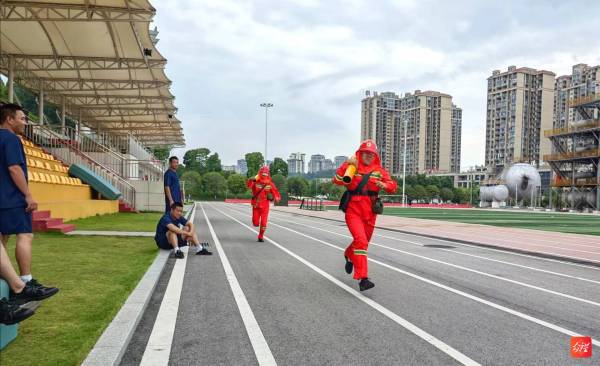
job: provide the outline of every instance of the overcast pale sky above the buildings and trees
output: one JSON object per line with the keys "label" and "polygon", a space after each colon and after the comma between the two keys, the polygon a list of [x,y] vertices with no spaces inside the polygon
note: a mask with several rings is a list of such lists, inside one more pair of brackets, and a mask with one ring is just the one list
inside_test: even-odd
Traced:
{"label": "overcast pale sky above the buildings and trees", "polygon": [[[495,3],[495,5],[493,4]],[[462,167],[482,164],[486,79],[509,65],[600,64],[598,1],[153,1],[187,149],[349,155],[365,90],[437,90],[463,109]]]}

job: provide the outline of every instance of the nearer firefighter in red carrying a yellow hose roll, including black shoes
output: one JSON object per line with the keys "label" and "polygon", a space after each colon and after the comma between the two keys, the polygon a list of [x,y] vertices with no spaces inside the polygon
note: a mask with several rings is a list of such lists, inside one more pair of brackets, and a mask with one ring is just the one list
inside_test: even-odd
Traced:
{"label": "nearer firefighter in red carrying a yellow hose roll, including black shoes", "polygon": [[[344,175],[348,166],[356,167],[354,176]],[[368,177],[366,177],[368,175]],[[363,180],[364,178],[364,180]],[[372,140],[366,140],[361,145],[356,156],[350,157],[336,171],[333,182],[345,185],[348,189],[346,224],[354,240],[344,253],[346,258],[346,273],[354,270],[354,279],[359,280],[361,291],[373,288],[375,284],[368,278],[367,249],[375,229],[377,214],[373,211],[381,202],[378,201],[380,190],[394,193],[398,184],[390,178],[389,173],[381,166],[377,146]],[[363,186],[360,191],[357,189]],[[381,205],[379,205],[382,208]]]}

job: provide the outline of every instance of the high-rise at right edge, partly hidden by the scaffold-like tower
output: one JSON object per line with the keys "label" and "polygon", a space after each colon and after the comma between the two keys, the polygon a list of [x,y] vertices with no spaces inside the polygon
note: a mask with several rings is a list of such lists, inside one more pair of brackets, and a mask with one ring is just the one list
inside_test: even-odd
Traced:
{"label": "high-rise at right edge, partly hidden by the scaffold-like tower", "polygon": [[[556,78],[554,84],[554,128],[564,128],[582,119],[599,119],[600,111],[590,111],[591,115],[582,116],[574,108],[569,108],[569,101],[579,97],[600,93],[600,65],[573,66],[571,75]],[[587,113],[587,112],[586,112]]]}

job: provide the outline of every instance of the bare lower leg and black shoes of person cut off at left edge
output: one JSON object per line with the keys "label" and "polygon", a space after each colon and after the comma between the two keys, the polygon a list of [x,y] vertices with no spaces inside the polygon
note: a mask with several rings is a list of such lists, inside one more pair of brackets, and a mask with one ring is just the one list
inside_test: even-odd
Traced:
{"label": "bare lower leg and black shoes of person cut off at left edge", "polygon": [[15,324],[29,318],[35,311],[22,308],[21,305],[47,299],[56,294],[56,291],[49,288],[34,286],[31,281],[23,282],[12,266],[3,245],[0,245],[0,278],[5,280],[10,288],[10,300],[0,299],[0,323],[2,324]]}

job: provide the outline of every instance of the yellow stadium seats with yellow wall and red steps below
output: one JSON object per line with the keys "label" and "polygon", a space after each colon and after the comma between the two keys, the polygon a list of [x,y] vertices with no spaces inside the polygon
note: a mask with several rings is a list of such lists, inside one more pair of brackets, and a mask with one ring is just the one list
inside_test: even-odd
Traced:
{"label": "yellow stadium seats with yellow wall and red steps below", "polygon": [[[33,214],[34,231],[67,232],[73,225],[63,220],[114,213],[119,201],[95,199],[94,190],[79,178],[69,176],[69,168],[31,141],[21,138],[27,159],[29,188],[38,211]],[[60,218],[56,218],[60,217]]]}

